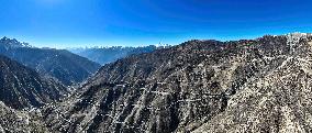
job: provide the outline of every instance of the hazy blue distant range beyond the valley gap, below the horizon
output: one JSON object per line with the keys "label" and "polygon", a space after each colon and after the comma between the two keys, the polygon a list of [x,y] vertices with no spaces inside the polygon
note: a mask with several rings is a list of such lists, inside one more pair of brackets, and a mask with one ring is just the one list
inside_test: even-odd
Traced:
{"label": "hazy blue distant range beyond the valley gap, below the horizon", "polygon": [[131,56],[138,55],[143,53],[151,53],[156,49],[166,48],[170,46],[141,46],[141,47],[122,47],[122,46],[112,46],[112,47],[90,47],[90,48],[68,48],[68,51],[80,55],[82,57],[89,58],[99,64],[113,63],[118,59]]}

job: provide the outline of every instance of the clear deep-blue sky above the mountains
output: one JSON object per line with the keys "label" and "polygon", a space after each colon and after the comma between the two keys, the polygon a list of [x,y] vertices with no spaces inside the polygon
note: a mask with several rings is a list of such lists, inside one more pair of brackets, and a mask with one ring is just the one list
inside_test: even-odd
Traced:
{"label": "clear deep-blue sky above the mountains", "polygon": [[312,32],[311,0],[0,0],[0,35],[34,46],[140,46]]}

